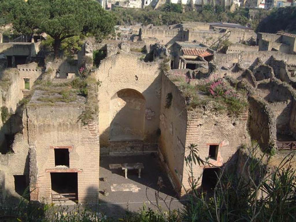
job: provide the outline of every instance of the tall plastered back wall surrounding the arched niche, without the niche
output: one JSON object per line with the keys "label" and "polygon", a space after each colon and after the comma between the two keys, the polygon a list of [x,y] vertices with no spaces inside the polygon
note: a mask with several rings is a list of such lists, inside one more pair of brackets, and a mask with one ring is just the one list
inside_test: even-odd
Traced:
{"label": "tall plastered back wall surrounding the arched niche, without the niche", "polygon": [[[119,54],[102,60],[99,68],[92,75],[96,80],[101,81],[98,91],[101,152],[109,153],[114,151],[110,148],[112,145],[110,143],[110,124],[114,119],[114,113],[112,114],[111,112],[114,108],[114,101],[112,103],[111,101],[112,97],[123,89],[136,90],[144,97],[143,142],[157,142],[161,92],[159,63],[146,63],[140,61],[135,55],[121,51]],[[136,108],[137,106],[135,105],[134,107]],[[131,116],[129,118],[130,121],[133,121]],[[130,130],[124,125],[121,127],[126,132]],[[116,151],[119,150],[117,149]]]}

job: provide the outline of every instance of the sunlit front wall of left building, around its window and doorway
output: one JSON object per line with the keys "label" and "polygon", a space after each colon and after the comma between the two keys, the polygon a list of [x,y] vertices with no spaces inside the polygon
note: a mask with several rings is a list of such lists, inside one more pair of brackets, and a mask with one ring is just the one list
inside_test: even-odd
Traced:
{"label": "sunlit front wall of left building, around its window and doorway", "polygon": [[[32,101],[24,111],[30,145],[30,189],[37,188],[31,200],[45,198],[51,202],[50,173],[54,172],[77,172],[79,202],[98,198],[98,127],[96,121],[86,126],[78,121],[83,111],[84,103],[44,106]],[[54,148],[62,147],[69,150],[69,168],[55,166]]]}

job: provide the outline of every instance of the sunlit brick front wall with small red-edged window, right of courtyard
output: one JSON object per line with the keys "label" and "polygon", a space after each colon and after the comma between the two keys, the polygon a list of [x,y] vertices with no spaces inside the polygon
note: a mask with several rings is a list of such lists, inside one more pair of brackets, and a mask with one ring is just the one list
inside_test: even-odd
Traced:
{"label": "sunlit brick front wall with small red-edged window, right of courtyard", "polygon": [[[198,155],[205,160],[209,155],[209,145],[219,144],[217,161],[210,160],[215,166],[222,166],[238,150],[242,144],[250,144],[247,133],[248,112],[239,116],[229,116],[227,113],[215,113],[210,110],[188,111],[187,114],[186,144],[196,144]],[[185,149],[185,156],[188,155]],[[206,166],[209,167],[209,166]],[[202,176],[203,166],[193,167],[194,178]],[[183,184],[189,189],[188,182],[189,166],[184,163]],[[201,179],[199,184],[201,184]],[[182,189],[182,193],[184,190]]]}

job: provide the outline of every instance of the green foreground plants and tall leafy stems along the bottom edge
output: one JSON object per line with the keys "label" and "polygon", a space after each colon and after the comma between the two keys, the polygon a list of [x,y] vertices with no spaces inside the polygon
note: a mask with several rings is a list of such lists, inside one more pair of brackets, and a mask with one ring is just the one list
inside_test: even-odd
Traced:
{"label": "green foreground plants and tall leafy stems along the bottom edge", "polygon": [[[171,210],[151,202],[157,210],[143,207],[138,212],[126,211],[116,221],[123,222],[199,222],[199,221],[296,221],[296,178],[292,168],[295,153],[289,153],[281,163],[272,169],[267,163],[271,156],[260,153],[258,145],[247,148],[242,145],[242,164],[233,161],[235,166],[220,167],[215,188],[207,193],[198,189],[201,178],[196,178],[194,168],[213,166],[208,158],[202,160],[197,145],[186,148],[185,163],[189,167],[188,181],[190,189],[188,202],[184,208]],[[200,165],[200,166],[197,166]],[[237,174],[244,173],[244,175]],[[156,202],[162,201],[158,191]],[[25,194],[28,194],[28,191]],[[24,195],[25,196],[25,195]],[[171,199],[173,200],[173,198]],[[73,210],[61,206],[36,204],[25,198],[13,207],[0,205],[0,216],[10,215],[13,221],[34,222],[107,222],[115,221],[92,211],[87,206],[76,205]],[[99,205],[98,205],[99,207]],[[97,208],[96,208],[97,209]],[[68,213],[65,213],[68,212]],[[5,218],[6,219],[6,218]]]}

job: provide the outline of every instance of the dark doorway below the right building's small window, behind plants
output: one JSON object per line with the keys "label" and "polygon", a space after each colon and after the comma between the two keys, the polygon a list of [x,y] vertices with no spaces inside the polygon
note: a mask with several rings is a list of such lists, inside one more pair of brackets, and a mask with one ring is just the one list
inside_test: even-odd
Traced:
{"label": "dark doorway below the right building's small window, behind plants", "polygon": [[215,188],[218,182],[220,169],[205,168],[202,173],[202,189],[210,191]]}

